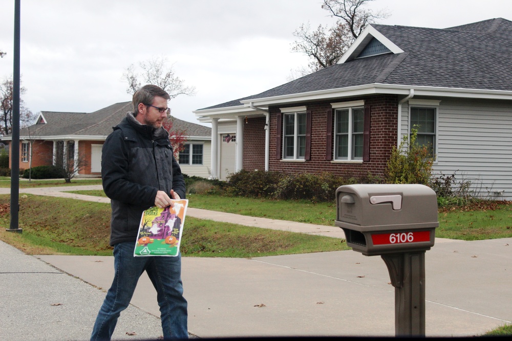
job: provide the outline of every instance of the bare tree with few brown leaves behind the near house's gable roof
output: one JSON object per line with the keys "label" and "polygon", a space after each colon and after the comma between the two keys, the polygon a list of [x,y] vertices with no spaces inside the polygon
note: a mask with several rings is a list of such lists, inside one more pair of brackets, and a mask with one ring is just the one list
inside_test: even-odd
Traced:
{"label": "bare tree with few brown leaves behind the near house's gable roof", "polygon": [[389,16],[385,11],[372,12],[362,8],[373,0],[324,0],[322,8],[338,20],[331,28],[319,25],[314,31],[309,24],[302,25],[293,35],[298,39],[292,43],[292,51],[310,58],[311,73],[334,65],[361,34],[368,24]]}

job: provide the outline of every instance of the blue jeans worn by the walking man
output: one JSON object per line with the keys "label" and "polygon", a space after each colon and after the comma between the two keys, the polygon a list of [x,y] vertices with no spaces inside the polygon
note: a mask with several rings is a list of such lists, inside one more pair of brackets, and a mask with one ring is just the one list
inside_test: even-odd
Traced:
{"label": "blue jeans worn by the walking man", "polygon": [[132,299],[144,270],[157,290],[164,339],[188,338],[187,301],[181,282],[181,255],[134,257],[135,242],[114,246],[114,281],[101,306],[91,340],[110,340],[121,311]]}

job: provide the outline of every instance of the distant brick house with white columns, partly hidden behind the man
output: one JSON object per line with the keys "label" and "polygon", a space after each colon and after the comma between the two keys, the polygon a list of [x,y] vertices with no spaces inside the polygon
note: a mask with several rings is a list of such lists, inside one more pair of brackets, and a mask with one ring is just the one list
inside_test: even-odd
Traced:
{"label": "distant brick house with white columns, partly hidden behind the man", "polygon": [[[36,167],[51,165],[64,155],[76,161],[80,155],[86,167],[77,176],[100,176],[103,142],[128,111],[133,111],[132,102],[116,103],[91,113],[42,111],[36,124],[20,129],[19,168],[28,169],[30,157],[32,167]],[[180,153],[182,172],[208,177],[211,128],[174,118],[173,130],[184,131],[187,139],[185,151]],[[1,140],[10,142],[11,135]]]}

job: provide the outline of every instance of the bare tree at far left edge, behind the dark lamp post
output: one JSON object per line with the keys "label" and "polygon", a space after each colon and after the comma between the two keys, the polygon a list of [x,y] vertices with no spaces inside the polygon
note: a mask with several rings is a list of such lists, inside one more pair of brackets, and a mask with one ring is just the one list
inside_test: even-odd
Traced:
{"label": "bare tree at far left edge, behind the dark lamp post", "polygon": [[[0,83],[0,136],[11,133],[12,130],[12,99],[14,83],[12,76]],[[20,95],[25,94],[27,89],[20,87]],[[25,127],[34,119],[32,111],[25,107],[22,98],[19,99],[19,125]]]}

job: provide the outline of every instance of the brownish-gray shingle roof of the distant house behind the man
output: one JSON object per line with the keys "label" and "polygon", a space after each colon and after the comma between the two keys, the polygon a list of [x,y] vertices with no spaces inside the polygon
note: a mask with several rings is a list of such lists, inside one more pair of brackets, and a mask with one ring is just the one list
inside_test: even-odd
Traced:
{"label": "brownish-gray shingle roof of the distant house behind the man", "polygon": [[[95,136],[106,137],[126,116],[133,111],[132,102],[121,102],[91,112],[54,112],[41,111],[46,124],[34,124],[20,129],[20,137],[54,137],[54,136]],[[184,131],[187,136],[210,137],[211,128],[173,118],[173,130]],[[10,135],[9,135],[10,136]]]}

